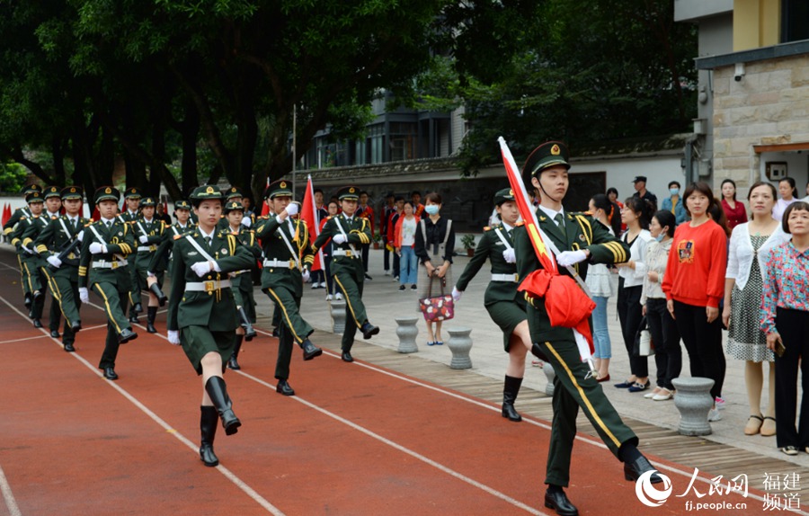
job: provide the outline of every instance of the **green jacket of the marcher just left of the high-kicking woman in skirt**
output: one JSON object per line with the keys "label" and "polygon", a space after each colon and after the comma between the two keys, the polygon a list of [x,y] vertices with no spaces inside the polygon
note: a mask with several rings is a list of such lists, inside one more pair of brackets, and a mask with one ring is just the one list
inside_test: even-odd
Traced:
{"label": "green jacket of the marcher just left of the high-kicking woman in skirt", "polygon": [[[93,228],[102,237],[99,240]],[[93,242],[107,246],[107,253],[90,254],[90,245]],[[112,226],[108,229],[102,220],[92,222],[84,227],[84,239],[82,240],[82,254],[79,259],[79,288],[87,288],[87,283],[110,282],[114,283],[119,290],[129,290],[131,281],[129,280],[129,267],[116,267],[115,269],[101,269],[91,267],[93,261],[113,262],[120,261],[120,258],[127,258],[135,250],[135,239],[132,237],[132,228],[126,222],[121,222],[119,218],[112,219]],[[116,256],[116,254],[118,256]],[[129,262],[129,260],[128,260]]]}

